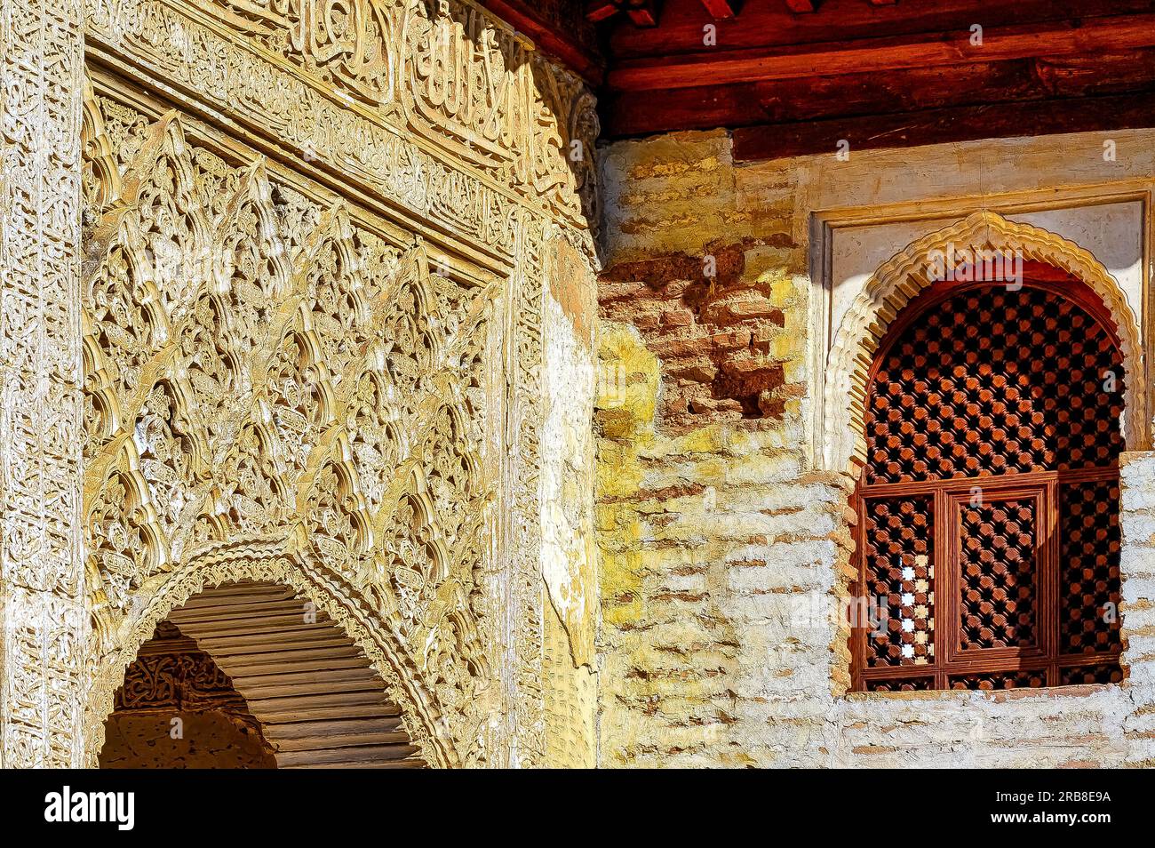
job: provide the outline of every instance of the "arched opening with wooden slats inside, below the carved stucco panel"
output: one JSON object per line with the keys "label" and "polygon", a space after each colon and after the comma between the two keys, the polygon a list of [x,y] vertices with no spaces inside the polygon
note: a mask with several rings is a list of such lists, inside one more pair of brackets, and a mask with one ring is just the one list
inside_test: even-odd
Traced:
{"label": "arched opening with wooden slats inside, below the carved stucco panel", "polygon": [[102,767],[424,767],[364,652],[293,589],[245,581],[174,609],[129,665]]}

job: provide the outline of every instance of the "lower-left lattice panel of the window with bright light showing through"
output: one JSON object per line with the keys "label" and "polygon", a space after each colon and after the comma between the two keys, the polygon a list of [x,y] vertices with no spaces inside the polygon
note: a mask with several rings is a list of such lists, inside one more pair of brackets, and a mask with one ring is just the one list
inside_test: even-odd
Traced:
{"label": "lower-left lattice panel of the window with bright light showing through", "polygon": [[866,594],[886,616],[885,632],[869,637],[867,663],[925,663],[934,654],[931,501],[872,499],[866,520]]}

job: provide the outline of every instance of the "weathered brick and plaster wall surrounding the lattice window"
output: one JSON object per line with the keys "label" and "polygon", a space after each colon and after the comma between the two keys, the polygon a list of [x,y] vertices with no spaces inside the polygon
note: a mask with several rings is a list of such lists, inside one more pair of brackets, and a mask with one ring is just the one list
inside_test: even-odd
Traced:
{"label": "weathered brick and plaster wall surrounding the lattice window", "polygon": [[[845,694],[830,609],[850,575],[852,479],[815,461],[815,377],[835,329],[815,296],[815,220],[937,229],[984,203],[1035,215],[1048,195],[1056,226],[1086,230],[1087,214],[1066,207],[1131,203],[1153,186],[1155,133],[1112,137],[1116,162],[1096,134],[848,163],[736,164],[723,132],[603,149],[601,765],[1155,761],[1155,456],[1128,454],[1123,471],[1125,685],[906,695]],[[1131,236],[1150,244],[1146,229]],[[906,244],[895,236],[891,252]]]}

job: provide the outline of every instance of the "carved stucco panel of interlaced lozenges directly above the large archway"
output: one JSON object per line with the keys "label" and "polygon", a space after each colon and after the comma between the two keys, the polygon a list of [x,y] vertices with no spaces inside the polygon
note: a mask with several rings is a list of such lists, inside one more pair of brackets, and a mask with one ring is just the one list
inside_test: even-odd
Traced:
{"label": "carved stucco panel of interlaced lozenges directly above the large archway", "polygon": [[357,616],[378,646],[415,736],[438,746],[430,761],[484,761],[504,626],[486,585],[499,281],[431,274],[420,239],[390,245],[259,157],[225,163],[176,112],[149,121],[91,101],[87,116],[97,676],[116,682],[176,575],[273,559],[281,579],[296,570],[345,598],[330,615]]}

